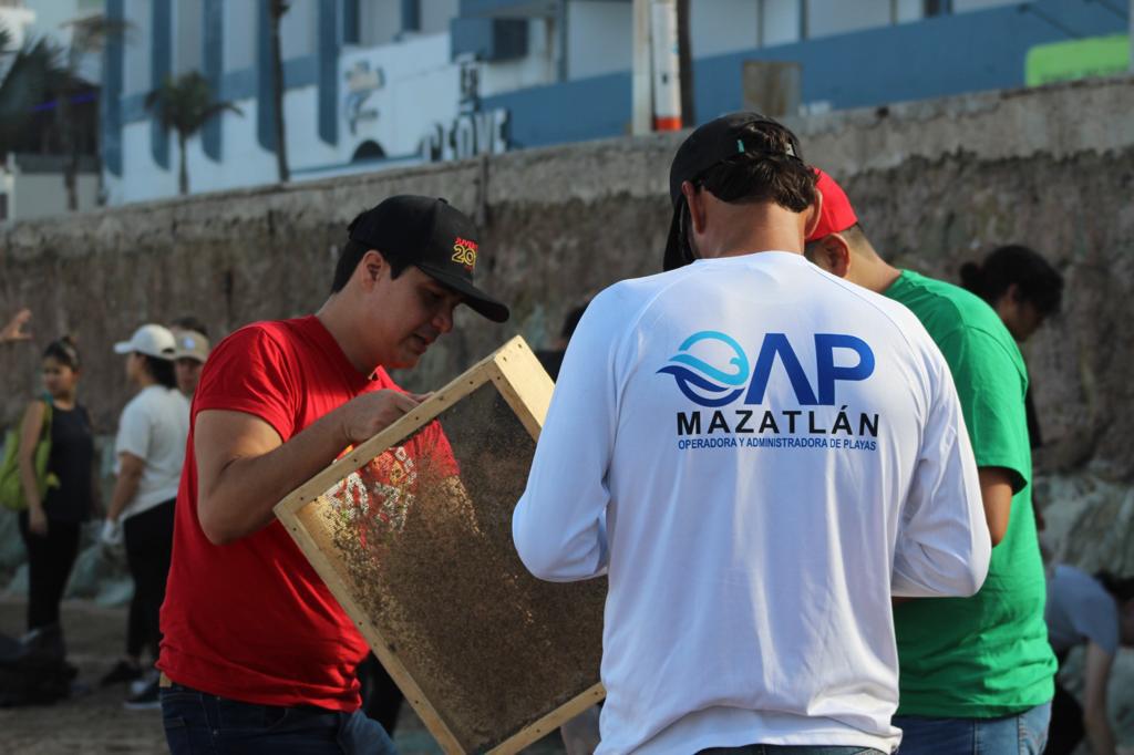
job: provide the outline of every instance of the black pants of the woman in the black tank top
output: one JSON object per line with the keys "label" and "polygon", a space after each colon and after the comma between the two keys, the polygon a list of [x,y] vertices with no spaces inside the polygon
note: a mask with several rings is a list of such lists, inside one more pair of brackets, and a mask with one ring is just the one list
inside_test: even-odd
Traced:
{"label": "black pants of the woman in the black tank top", "polygon": [[49,519],[48,534],[36,535],[27,528],[27,511],[20,511],[19,534],[27,549],[27,629],[31,631],[59,623],[59,603],[78,555],[79,525]]}

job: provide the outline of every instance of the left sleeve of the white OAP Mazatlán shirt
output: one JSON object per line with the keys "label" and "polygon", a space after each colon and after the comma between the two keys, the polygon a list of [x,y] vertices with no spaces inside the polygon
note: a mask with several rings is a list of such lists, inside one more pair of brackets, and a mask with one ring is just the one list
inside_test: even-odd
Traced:
{"label": "left sleeve of the white OAP Mazatl\u00e1n shirt", "polygon": [[607,473],[617,426],[619,381],[610,291],[586,309],[564,356],[535,447],[527,487],[513,514],[513,540],[541,579],[589,579],[607,569]]}

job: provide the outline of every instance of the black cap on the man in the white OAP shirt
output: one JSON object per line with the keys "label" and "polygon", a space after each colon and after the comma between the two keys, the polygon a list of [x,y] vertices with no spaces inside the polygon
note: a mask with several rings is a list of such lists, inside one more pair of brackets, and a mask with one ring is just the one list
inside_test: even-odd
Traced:
{"label": "black cap on the man in the white OAP shirt", "polygon": [[768,154],[762,145],[752,144],[752,136],[745,132],[752,124],[770,124],[784,129],[788,137],[784,154],[803,159],[795,134],[776,119],[759,112],[721,116],[689,134],[677,149],[669,167],[669,200],[674,205],[674,220],[669,224],[669,238],[666,241],[666,256],[662,261],[665,270],[676,270],[694,261],[693,252],[682,234],[682,213],[685,210],[682,184],[695,180],[713,166],[737,154]]}

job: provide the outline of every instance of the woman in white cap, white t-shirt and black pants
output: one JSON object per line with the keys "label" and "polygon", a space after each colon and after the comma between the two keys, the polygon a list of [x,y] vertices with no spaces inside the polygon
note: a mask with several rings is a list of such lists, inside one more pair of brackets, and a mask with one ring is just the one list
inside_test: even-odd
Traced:
{"label": "woman in white cap, white t-shirt and black pants", "polygon": [[[156,672],[141,673],[142,653],[156,658],[161,631],[158,614],[166,599],[166,577],[174,543],[174,502],[185,461],[189,405],[174,374],[176,341],[161,325],[142,325],[130,340],[115,345],[126,355],[126,378],[138,392],[122,409],[115,442],[118,481],[103,523],[102,541],[125,541],[134,577],[126,633],[126,659],[104,682],[142,676],[127,707],[158,707]],[[134,673],[132,673],[134,671]]]}

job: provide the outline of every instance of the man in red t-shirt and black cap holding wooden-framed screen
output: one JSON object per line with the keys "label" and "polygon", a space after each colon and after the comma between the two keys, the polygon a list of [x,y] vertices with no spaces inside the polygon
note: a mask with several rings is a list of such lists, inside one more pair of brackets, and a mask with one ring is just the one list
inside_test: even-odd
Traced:
{"label": "man in red t-shirt and black cap holding wooden-framed screen", "polygon": [[[476,237],[443,200],[391,197],[350,223],[318,313],[247,325],[210,355],[161,611],[175,755],[393,752],[358,711],[366,643],[272,508],[417,405],[386,370],[416,365],[458,304],[508,319],[473,285]],[[434,425],[396,452],[405,463],[449,448]]]}

